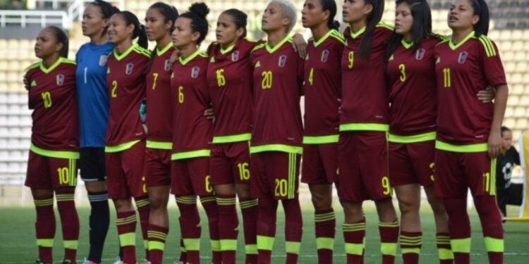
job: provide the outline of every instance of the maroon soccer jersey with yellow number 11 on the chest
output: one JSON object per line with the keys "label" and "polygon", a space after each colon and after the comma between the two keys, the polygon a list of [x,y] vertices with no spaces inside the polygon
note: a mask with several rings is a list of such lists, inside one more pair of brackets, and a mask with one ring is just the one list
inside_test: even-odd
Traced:
{"label": "maroon soccer jersey with yellow number 11 on the chest", "polygon": [[451,40],[438,44],[434,52],[437,139],[452,144],[487,142],[494,103],[482,103],[476,94],[506,84],[496,44],[472,32],[459,44]]}

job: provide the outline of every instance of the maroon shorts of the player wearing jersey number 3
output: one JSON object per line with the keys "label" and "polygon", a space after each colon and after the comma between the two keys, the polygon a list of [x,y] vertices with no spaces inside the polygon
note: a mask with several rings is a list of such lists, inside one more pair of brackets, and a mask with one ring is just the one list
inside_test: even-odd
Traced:
{"label": "maroon shorts of the player wearing jersey number 3", "polygon": [[391,185],[434,185],[435,141],[389,143],[389,180]]}

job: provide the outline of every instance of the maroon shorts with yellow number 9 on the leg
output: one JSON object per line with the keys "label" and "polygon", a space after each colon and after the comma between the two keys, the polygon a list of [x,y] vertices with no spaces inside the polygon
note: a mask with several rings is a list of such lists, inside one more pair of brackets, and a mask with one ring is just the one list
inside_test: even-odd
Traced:
{"label": "maroon shorts with yellow number 9 on the leg", "polygon": [[344,201],[391,198],[385,132],[341,132],[338,196]]}

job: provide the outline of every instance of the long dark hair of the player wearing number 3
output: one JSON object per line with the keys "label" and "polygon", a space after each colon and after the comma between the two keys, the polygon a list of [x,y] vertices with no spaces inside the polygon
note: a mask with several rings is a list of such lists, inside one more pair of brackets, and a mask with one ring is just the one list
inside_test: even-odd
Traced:
{"label": "long dark hair of the player wearing number 3", "polygon": [[[413,39],[413,52],[417,51],[423,39],[428,37],[438,37],[432,34],[432,13],[430,5],[426,0],[397,0],[396,6],[399,4],[408,4],[410,6],[411,16],[413,17],[413,25],[411,26],[411,37]],[[387,56],[391,56],[402,41],[402,35],[393,32],[391,40],[388,44]]]}

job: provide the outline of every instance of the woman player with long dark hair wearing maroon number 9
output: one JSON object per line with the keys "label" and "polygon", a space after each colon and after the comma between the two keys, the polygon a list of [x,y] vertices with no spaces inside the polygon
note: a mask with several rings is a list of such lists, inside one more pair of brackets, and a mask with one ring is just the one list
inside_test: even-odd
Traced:
{"label": "woman player with long dark hair wearing maroon number 9", "polygon": [[338,195],[346,215],[343,237],[348,263],[363,261],[363,201],[375,201],[382,263],[394,263],[399,222],[391,203],[387,171],[389,103],[385,80],[387,43],[393,27],[379,23],[381,0],[343,2],[347,46],[341,59],[341,117]]}

